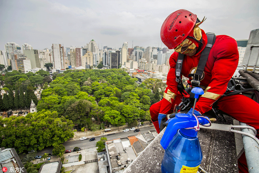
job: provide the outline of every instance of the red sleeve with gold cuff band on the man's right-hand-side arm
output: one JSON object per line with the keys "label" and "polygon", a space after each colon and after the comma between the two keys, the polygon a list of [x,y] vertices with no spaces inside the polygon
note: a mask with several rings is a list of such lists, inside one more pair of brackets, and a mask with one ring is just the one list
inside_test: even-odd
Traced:
{"label": "red sleeve with gold cuff band on the man's right-hand-side arm", "polygon": [[238,64],[239,53],[235,39],[231,37],[226,39],[221,38],[215,47],[213,46],[212,51],[215,62],[211,72],[212,79],[208,85],[208,88],[210,88],[207,90],[207,93],[205,92],[204,95],[199,98],[195,107],[195,109],[201,113],[209,111],[212,104],[224,94],[228,81],[233,76]]}

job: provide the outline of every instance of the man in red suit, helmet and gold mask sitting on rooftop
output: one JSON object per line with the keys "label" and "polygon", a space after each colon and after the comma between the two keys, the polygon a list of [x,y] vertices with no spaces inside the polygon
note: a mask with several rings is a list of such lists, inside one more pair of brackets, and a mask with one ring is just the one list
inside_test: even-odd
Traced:
{"label": "man in red suit, helmet and gold mask sitting on rooftop", "polygon": [[[202,22],[192,12],[181,9],[170,14],[161,27],[161,40],[175,52],[169,60],[170,70],[167,75],[167,88],[163,99],[150,107],[151,120],[158,133],[160,132],[161,120],[165,119],[167,114],[173,113],[174,105],[181,102],[182,94],[178,92],[178,83],[176,82],[178,53],[184,54],[181,75],[188,77],[197,68],[201,52],[207,44],[207,36],[199,28]],[[238,58],[239,53],[235,39],[227,35],[216,36],[200,81],[200,87],[203,88],[204,94],[197,101],[194,114],[200,115],[210,111],[212,104],[217,101],[219,110],[254,127],[259,132],[259,104],[257,102],[241,94],[220,98],[225,93],[228,81],[237,69]],[[188,78],[187,82],[191,85],[192,77]],[[246,172],[245,159],[242,159],[242,163],[240,161],[239,171]]]}

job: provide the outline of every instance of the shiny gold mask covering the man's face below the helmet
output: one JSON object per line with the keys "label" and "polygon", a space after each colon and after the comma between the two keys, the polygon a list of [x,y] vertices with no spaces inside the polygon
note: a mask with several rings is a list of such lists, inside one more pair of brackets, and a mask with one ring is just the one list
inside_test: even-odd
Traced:
{"label": "shiny gold mask covering the man's face below the helmet", "polygon": [[195,53],[196,52],[196,45],[190,41],[189,39],[185,39],[180,45],[178,45],[174,51],[181,53],[181,54],[190,54],[190,53]]}

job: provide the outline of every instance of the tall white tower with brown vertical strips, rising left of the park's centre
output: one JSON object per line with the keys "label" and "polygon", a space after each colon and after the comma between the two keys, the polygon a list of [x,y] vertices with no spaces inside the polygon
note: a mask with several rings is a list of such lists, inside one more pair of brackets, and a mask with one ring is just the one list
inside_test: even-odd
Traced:
{"label": "tall white tower with brown vertical strips, rising left of the park's centre", "polygon": [[65,53],[61,44],[52,44],[52,64],[54,69],[64,69]]}

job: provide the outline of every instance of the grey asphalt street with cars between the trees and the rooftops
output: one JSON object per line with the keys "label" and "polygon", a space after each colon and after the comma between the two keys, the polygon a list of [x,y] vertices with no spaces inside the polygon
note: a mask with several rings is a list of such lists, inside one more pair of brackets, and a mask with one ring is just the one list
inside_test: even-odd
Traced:
{"label": "grey asphalt street with cars between the trees and the rooftops", "polygon": [[[100,136],[90,136],[86,140],[68,140],[63,143],[65,146],[66,150],[71,150],[73,152],[73,149],[75,147],[79,147],[81,149],[89,149],[89,148],[94,148],[96,147],[96,142],[100,140],[103,136],[107,138],[107,140],[113,140],[113,139],[118,139],[118,138],[126,138],[127,136],[133,136],[137,134],[143,134],[143,133],[148,133],[148,130],[155,130],[154,126],[147,126],[140,128],[140,132],[134,132],[134,131],[129,131],[129,132],[117,132],[113,134],[106,134],[100,135]],[[95,137],[95,141],[89,141],[90,138]],[[52,153],[53,147],[47,147],[41,151],[38,152],[39,155],[43,155],[44,153]]]}

